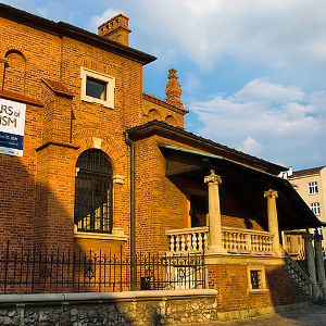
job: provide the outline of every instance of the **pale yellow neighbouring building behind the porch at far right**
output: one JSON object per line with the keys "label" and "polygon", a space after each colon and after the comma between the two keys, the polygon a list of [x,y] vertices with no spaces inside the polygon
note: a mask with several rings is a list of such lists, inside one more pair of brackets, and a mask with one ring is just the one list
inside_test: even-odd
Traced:
{"label": "pale yellow neighbouring building behind the porch at far right", "polygon": [[[326,223],[326,165],[291,171],[287,174],[288,180],[310,206],[319,221]],[[324,229],[321,229],[323,234]],[[301,236],[288,234],[286,236],[287,250],[293,255],[303,255]],[[326,239],[323,240],[326,248]]]}

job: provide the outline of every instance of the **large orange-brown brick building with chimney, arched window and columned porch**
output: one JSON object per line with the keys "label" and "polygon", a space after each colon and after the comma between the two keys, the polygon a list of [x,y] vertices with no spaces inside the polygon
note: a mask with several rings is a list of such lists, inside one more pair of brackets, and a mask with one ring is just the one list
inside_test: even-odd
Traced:
{"label": "large orange-brown brick building with chimney, arched window and columned porch", "polygon": [[166,100],[142,91],[155,58],[128,47],[126,16],[99,35],[3,4],[0,16],[1,251],[205,250],[221,310],[306,300],[279,230],[319,221],[285,167],[185,130],[175,70]]}

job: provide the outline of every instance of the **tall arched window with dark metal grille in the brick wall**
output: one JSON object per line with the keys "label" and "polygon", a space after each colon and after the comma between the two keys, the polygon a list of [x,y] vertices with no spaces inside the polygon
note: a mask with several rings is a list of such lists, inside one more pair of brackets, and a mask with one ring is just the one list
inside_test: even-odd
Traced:
{"label": "tall arched window with dark metal grille in the brick wall", "polygon": [[89,149],[76,163],[75,225],[79,231],[112,231],[112,166],[99,149]]}

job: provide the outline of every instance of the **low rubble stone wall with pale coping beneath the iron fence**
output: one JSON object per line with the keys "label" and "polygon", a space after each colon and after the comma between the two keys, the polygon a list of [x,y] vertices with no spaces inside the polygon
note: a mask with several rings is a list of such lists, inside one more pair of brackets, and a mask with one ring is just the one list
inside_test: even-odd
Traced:
{"label": "low rubble stone wall with pale coping beneath the iron fence", "polygon": [[216,296],[216,290],[7,294],[0,296],[0,324],[179,325],[249,318],[309,304],[222,312]]}

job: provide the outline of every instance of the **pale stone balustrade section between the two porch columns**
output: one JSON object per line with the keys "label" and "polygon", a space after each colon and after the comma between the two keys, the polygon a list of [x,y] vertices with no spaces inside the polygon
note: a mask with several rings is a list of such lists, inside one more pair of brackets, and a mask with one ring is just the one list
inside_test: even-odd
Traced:
{"label": "pale stone balustrade section between the two porch columns", "polygon": [[222,242],[226,252],[272,255],[274,235],[266,231],[222,227]]}

